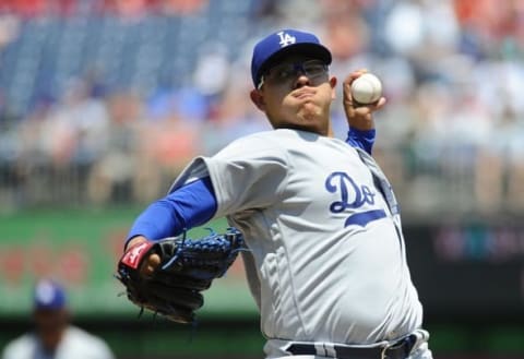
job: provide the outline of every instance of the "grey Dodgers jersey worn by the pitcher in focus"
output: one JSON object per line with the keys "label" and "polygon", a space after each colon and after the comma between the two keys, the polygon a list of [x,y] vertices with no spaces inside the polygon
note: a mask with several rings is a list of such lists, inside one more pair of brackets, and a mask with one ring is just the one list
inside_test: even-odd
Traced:
{"label": "grey Dodgers jersey worn by the pitcher in focus", "polygon": [[270,342],[370,344],[421,325],[394,196],[364,151],[296,130],[257,133],[195,158],[171,190],[204,176],[215,216],[251,250],[247,276]]}

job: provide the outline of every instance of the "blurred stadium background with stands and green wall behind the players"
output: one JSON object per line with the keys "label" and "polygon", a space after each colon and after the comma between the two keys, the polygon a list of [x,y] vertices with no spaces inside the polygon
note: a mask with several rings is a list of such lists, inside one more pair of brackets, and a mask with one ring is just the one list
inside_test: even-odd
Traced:
{"label": "blurred stadium background with stands and green wall behind the players", "polygon": [[249,60],[281,27],[317,32],[340,79],[384,82],[374,153],[436,357],[524,358],[522,0],[0,0],[0,347],[53,276],[118,358],[262,357],[241,263],[195,328],[136,320],[112,272],[192,156],[269,129]]}

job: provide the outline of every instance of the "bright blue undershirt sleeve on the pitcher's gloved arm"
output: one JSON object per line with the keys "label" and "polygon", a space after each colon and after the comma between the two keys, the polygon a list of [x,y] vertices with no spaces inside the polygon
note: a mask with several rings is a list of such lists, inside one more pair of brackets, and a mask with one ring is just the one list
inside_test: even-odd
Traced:
{"label": "bright blue undershirt sleeve on the pitcher's gloved arm", "polygon": [[178,236],[184,229],[209,222],[216,208],[211,178],[199,179],[152,203],[134,220],[126,242],[136,236],[150,240]]}

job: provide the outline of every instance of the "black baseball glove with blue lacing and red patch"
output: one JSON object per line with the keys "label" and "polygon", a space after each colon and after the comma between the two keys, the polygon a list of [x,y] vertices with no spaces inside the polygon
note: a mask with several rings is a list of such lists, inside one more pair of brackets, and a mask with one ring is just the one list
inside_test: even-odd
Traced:
{"label": "black baseball glove with blue lacing and red patch", "polygon": [[[116,277],[124,285],[128,298],[142,310],[148,309],[178,323],[192,323],[194,311],[204,303],[201,291],[222,277],[245,250],[242,235],[229,228],[191,240],[182,237],[147,241],[131,247],[118,263]],[[158,254],[159,266],[151,276],[140,267],[151,254]]]}

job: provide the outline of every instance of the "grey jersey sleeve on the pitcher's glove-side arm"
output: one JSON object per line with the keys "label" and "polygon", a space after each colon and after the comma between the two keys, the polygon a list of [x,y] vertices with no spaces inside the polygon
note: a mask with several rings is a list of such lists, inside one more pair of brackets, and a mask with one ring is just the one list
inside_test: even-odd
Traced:
{"label": "grey jersey sleeve on the pitcher's glove-side arm", "polygon": [[195,158],[170,191],[210,176],[217,211],[215,217],[261,210],[276,202],[286,187],[287,154],[267,135],[233,142],[213,157]]}

